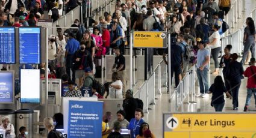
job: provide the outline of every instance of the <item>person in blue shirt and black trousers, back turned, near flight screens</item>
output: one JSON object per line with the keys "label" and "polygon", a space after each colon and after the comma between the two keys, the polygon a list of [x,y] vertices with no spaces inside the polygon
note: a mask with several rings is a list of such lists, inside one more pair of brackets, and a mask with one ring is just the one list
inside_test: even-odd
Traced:
{"label": "person in blue shirt and black trousers, back turned, near flight screens", "polygon": [[69,75],[69,78],[71,78],[71,72],[70,69],[72,70],[72,81],[75,82],[75,70],[72,68],[72,58],[73,54],[80,49],[80,43],[75,40],[75,35],[72,33],[69,33],[68,35],[69,40],[67,40],[67,45],[65,47],[66,53],[65,53],[65,58],[66,58],[66,72],[67,75]]}

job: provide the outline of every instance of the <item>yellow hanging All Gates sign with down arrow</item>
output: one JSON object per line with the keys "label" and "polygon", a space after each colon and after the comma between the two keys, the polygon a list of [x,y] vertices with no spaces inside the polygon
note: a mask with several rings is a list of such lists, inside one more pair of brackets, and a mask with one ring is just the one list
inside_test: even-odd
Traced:
{"label": "yellow hanging All Gates sign with down arrow", "polygon": [[133,47],[164,48],[166,47],[167,32],[133,32]]}

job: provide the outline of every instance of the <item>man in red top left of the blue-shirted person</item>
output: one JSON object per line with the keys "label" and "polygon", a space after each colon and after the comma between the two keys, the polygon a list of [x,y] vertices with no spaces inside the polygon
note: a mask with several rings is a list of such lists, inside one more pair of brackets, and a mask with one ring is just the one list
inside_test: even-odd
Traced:
{"label": "man in red top left of the blue-shirted person", "polygon": [[102,35],[101,35],[101,38],[102,38],[102,46],[106,47],[106,53],[109,52],[110,50],[110,32],[108,31],[108,26],[107,24],[103,24],[101,26],[101,29],[102,29]]}

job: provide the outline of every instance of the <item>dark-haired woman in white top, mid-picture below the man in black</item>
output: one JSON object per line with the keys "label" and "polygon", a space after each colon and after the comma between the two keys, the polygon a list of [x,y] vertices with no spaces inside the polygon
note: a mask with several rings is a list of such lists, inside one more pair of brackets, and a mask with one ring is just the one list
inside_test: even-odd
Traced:
{"label": "dark-haired woman in white top, mid-picture below the man in black", "polygon": [[123,98],[123,83],[120,80],[119,74],[113,72],[112,74],[112,83],[109,88],[110,98]]}

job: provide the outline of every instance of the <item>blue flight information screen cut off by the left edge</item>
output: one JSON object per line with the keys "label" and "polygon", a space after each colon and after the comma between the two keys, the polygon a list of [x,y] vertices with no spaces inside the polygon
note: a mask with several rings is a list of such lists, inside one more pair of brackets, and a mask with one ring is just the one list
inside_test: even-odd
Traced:
{"label": "blue flight information screen cut off by the left edge", "polygon": [[15,28],[0,28],[0,64],[15,64]]}

